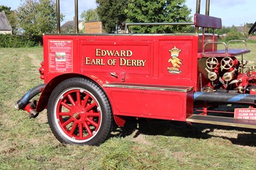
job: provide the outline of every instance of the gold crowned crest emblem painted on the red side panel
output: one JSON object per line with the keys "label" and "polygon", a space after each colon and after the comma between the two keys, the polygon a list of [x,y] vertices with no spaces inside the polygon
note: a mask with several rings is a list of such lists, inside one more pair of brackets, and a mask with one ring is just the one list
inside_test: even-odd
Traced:
{"label": "gold crowned crest emblem painted on the red side panel", "polygon": [[179,59],[179,54],[181,52],[180,49],[177,49],[176,46],[174,46],[173,49],[169,50],[172,58],[170,58],[168,60],[168,63],[172,63],[172,67],[167,67],[168,72],[170,73],[181,73],[181,70],[179,70],[180,65],[182,65],[182,63],[180,61],[182,61],[181,59]]}

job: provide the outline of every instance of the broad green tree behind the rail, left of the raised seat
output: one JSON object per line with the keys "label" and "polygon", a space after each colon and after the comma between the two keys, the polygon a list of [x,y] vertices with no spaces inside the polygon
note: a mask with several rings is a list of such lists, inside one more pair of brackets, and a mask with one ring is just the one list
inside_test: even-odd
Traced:
{"label": "broad green tree behind the rail, left of the raised seat", "polygon": [[[127,22],[189,22],[186,0],[128,0]],[[186,26],[132,26],[133,33],[183,32]]]}

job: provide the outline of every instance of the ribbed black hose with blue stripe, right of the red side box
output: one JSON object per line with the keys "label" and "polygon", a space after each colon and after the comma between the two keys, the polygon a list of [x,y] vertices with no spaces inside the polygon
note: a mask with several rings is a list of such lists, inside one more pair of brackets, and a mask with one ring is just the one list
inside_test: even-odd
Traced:
{"label": "ribbed black hose with blue stripe, right of the red side box", "polygon": [[256,95],[241,93],[195,92],[194,101],[255,104]]}

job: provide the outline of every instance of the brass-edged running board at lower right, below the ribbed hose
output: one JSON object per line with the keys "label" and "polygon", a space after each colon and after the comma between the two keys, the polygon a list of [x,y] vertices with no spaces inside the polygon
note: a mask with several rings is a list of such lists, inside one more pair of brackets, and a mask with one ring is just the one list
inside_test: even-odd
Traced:
{"label": "brass-edged running board at lower right, below the ribbed hose", "polygon": [[230,127],[243,127],[243,128],[255,128],[256,120],[242,120],[235,118],[227,118],[220,116],[204,116],[199,114],[193,114],[186,121],[191,123],[206,123],[212,125],[223,125]]}

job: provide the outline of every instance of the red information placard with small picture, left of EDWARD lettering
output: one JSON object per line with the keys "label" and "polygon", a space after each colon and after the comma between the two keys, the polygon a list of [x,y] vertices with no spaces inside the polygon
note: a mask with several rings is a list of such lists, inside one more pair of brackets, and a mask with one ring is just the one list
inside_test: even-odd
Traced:
{"label": "red information placard with small picture, left of EDWARD lettering", "polygon": [[72,40],[49,40],[49,71],[72,72]]}

